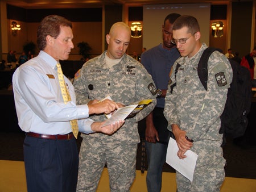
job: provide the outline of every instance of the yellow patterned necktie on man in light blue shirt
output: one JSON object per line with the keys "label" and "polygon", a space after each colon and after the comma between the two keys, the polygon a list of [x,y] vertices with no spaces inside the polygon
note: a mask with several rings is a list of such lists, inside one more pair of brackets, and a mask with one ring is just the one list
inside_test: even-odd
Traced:
{"label": "yellow patterned necktie on man in light blue shirt", "polygon": [[[69,91],[67,89],[67,86],[65,85],[65,81],[64,81],[64,78],[63,78],[63,72],[61,70],[61,66],[60,66],[59,63],[56,66],[57,66],[58,79],[59,79],[59,83],[60,83],[60,90],[61,90],[61,94],[62,94],[62,97],[63,97],[63,101],[64,101],[64,103],[67,103],[67,102],[71,101],[71,97],[69,95]],[[78,132],[79,132],[77,120],[71,120],[70,124],[71,124],[71,128],[72,128],[72,132],[73,132],[74,136],[77,139],[77,135],[78,135]]]}

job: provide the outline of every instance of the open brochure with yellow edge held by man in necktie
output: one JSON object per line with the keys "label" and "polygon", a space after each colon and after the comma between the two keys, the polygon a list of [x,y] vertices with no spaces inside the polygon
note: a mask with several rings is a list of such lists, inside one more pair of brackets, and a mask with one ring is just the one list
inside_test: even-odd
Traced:
{"label": "open brochure with yellow edge held by man in necktie", "polygon": [[[108,99],[111,99],[108,97]],[[102,99],[101,101],[103,101]],[[118,108],[112,114],[106,114],[108,120],[103,124],[103,126],[108,126],[109,124],[118,122],[119,120],[125,120],[126,118],[133,118],[139,111],[145,108],[148,104],[152,102],[152,99],[146,99],[138,102],[135,105],[128,105],[125,107]]]}

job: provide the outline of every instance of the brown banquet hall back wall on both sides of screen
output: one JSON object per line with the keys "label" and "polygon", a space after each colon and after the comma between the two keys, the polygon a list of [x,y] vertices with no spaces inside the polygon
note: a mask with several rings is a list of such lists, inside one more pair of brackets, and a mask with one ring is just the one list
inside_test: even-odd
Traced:
{"label": "brown banquet hall back wall on both sides of screen", "polygon": [[[221,11],[220,7],[225,6],[226,12]],[[233,51],[240,52],[240,56],[249,53],[255,45],[255,4],[253,1],[233,2],[230,5],[214,5],[212,7],[210,23],[221,20],[225,27],[224,36],[214,38],[210,35],[209,23],[209,46],[221,48],[224,52],[232,47]],[[3,15],[5,11],[6,19]],[[217,12],[217,16],[213,15],[214,12]],[[242,16],[239,12],[243,12]],[[91,57],[100,55],[107,47],[105,35],[114,22],[122,20],[130,24],[133,20],[138,20],[143,23],[142,7],[118,5],[81,9],[22,9],[7,4],[5,10],[1,3],[2,38],[0,45],[2,46],[0,51],[2,55],[0,55],[0,60],[6,60],[7,53],[11,49],[20,55],[25,43],[29,41],[36,43],[36,28],[40,20],[49,14],[63,15],[72,21],[75,48],[72,49],[69,60],[81,59],[79,48],[77,48],[77,43],[81,41],[87,42],[92,47]],[[11,35],[10,25],[13,21],[19,23],[22,28],[16,36]],[[7,31],[6,35],[3,34],[3,28]],[[127,53],[131,55],[134,51],[137,51],[138,54],[141,54],[142,47],[142,38],[131,38]],[[36,53],[38,51],[36,50]]]}

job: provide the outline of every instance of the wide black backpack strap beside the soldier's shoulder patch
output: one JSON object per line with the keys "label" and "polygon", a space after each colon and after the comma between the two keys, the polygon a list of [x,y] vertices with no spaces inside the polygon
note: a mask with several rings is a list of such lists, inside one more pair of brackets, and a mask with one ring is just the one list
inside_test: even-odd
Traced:
{"label": "wide black backpack strap beside the soldier's shoulder patch", "polygon": [[205,49],[197,65],[197,74],[205,90],[207,90],[208,81],[208,59],[212,52],[216,50],[219,51],[219,49],[214,47],[208,47]]}

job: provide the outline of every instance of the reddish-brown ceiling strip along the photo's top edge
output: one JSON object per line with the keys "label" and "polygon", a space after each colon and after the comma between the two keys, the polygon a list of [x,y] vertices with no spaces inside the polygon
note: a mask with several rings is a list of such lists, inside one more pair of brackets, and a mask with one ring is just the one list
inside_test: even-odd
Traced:
{"label": "reddish-brown ceiling strip along the photo's top edge", "polygon": [[24,9],[85,8],[101,7],[102,5],[142,6],[147,4],[170,3],[212,3],[220,5],[228,4],[231,1],[232,0],[6,0],[9,5],[22,7]]}

